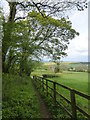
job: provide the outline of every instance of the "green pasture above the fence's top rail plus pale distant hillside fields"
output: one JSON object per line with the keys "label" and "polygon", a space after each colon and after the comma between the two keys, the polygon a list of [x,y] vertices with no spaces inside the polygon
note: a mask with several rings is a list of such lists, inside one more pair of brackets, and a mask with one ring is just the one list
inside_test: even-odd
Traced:
{"label": "green pasture above the fence's top rail plus pale distant hillside fields", "polygon": [[[66,62],[64,64],[67,67],[82,66],[81,63]],[[53,63],[53,62],[44,63],[42,68],[34,70],[31,74],[31,76],[33,76],[33,75],[42,76],[43,74],[58,75],[58,77],[56,77],[56,78],[49,78],[49,79],[88,94],[88,75],[90,73],[88,73],[88,72],[73,72],[73,71],[63,71],[63,72],[55,73],[54,71],[48,69],[48,66],[53,66],[53,65],[55,65],[55,63]],[[86,66],[87,66],[87,64],[86,64]]]}

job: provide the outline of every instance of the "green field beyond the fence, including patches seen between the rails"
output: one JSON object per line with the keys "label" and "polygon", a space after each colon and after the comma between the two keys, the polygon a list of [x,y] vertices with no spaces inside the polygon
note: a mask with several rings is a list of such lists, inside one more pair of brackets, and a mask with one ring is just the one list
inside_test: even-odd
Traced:
{"label": "green field beyond the fence, including patches seen between the rails", "polygon": [[[32,73],[32,75],[39,75],[42,74],[55,74],[51,71],[35,71]],[[60,84],[66,85],[70,88],[76,89],[80,92],[83,92],[85,94],[88,94],[88,73],[87,72],[68,72],[65,71],[63,73],[57,73],[59,77],[56,78],[48,78],[52,81],[58,82]],[[50,87],[52,87],[52,84],[49,84]],[[70,99],[70,92],[65,90],[64,88],[61,88],[57,86],[57,91],[60,92],[62,95],[64,95],[66,98]],[[58,98],[58,101],[60,101],[60,98]],[[62,100],[61,100],[62,101]],[[76,104],[80,106],[83,110],[88,112],[88,100],[76,95]]]}

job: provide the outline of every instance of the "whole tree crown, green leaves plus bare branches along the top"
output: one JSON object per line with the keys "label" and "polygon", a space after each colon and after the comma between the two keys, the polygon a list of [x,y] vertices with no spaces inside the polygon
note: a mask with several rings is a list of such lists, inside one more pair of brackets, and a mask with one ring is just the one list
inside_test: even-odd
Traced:
{"label": "whole tree crown, green leaves plus bare branches along the top", "polygon": [[[8,2],[8,1],[7,1]],[[62,3],[62,4],[61,4]],[[78,10],[87,8],[87,2],[8,2],[10,13],[3,21],[2,31],[2,70],[8,73],[10,68],[19,65],[19,73],[30,74],[32,65],[28,64],[40,56],[49,56],[54,60],[65,56],[69,41],[78,33],[72,29],[71,22],[64,17],[54,19],[50,15],[64,12],[76,6]],[[62,6],[64,8],[62,9]],[[17,9],[18,8],[18,9]],[[18,15],[18,11],[26,16]],[[61,15],[62,16],[62,15]],[[30,61],[28,60],[30,58]],[[24,65],[23,65],[24,64]],[[30,73],[27,71],[30,70]]]}

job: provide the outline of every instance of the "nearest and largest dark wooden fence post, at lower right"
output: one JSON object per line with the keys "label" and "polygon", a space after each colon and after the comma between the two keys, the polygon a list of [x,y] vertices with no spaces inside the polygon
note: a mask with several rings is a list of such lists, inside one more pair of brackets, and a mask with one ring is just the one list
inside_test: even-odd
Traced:
{"label": "nearest and largest dark wooden fence post, at lower right", "polygon": [[77,120],[75,92],[74,92],[74,90],[71,90],[70,92],[71,92],[72,119]]}

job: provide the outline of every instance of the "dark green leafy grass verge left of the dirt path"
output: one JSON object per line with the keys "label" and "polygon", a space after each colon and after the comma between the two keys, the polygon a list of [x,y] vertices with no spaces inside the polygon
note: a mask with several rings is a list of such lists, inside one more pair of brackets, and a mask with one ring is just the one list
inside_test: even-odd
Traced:
{"label": "dark green leafy grass verge left of the dirt path", "polygon": [[40,118],[39,101],[30,77],[4,74],[2,88],[3,120]]}

